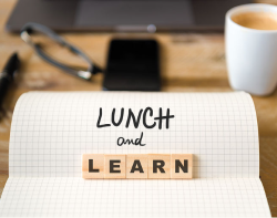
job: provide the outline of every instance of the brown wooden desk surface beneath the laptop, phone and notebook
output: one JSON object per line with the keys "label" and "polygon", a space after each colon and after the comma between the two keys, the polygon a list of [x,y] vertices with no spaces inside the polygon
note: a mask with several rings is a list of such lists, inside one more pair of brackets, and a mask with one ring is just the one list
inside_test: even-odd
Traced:
{"label": "brown wooden desk surface beneath the laptop, phone and notebook", "polygon": [[[264,0],[263,2],[265,2]],[[277,3],[277,0],[267,2]],[[66,75],[41,61],[18,35],[3,31],[16,0],[0,0],[0,69],[8,56],[19,51],[22,59],[20,76],[4,102],[6,116],[0,122],[0,195],[8,179],[9,136],[12,112],[19,96],[28,91],[100,91],[102,75],[92,83]],[[109,41],[113,37],[152,37],[161,44],[163,91],[229,92],[224,54],[224,35],[219,33],[168,34],[64,34],[101,66],[105,65]],[[259,125],[260,176],[271,215],[277,217],[277,91],[267,97],[253,96]]]}

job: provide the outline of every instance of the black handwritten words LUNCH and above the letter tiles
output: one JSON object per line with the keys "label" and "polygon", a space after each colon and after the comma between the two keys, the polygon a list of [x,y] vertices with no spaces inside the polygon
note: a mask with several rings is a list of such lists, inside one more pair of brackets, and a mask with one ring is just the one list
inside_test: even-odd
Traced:
{"label": "black handwritten words LUNCH and above the letter tiles", "polygon": [[[117,118],[117,121],[115,121],[116,108],[113,108],[112,115],[111,115],[111,123],[103,124],[101,122],[103,110],[102,110],[102,107],[100,107],[96,127],[103,128],[103,127],[110,127],[111,125],[113,125],[115,127],[120,126],[123,122],[124,111],[125,111],[124,108],[121,108],[120,117]],[[160,110],[158,110],[158,115],[156,117],[153,117],[153,121],[151,122],[150,118],[147,118],[147,117],[152,117],[152,116],[153,116],[153,108],[152,107],[146,107],[145,110],[140,110],[140,112],[136,116],[134,115],[132,108],[129,108],[125,127],[129,128],[129,126],[131,125],[131,121],[132,121],[133,126],[135,128],[137,128],[140,126],[140,123],[142,120],[142,124],[145,128],[157,127],[158,129],[162,129],[163,128],[163,121],[165,121],[165,128],[170,128],[170,120],[175,117],[174,115],[171,115],[170,108],[166,110],[166,115],[163,115],[162,107],[160,107]],[[143,144],[142,139],[143,139],[143,133],[141,133],[141,136],[138,138],[135,138],[135,139],[125,139],[124,137],[119,137],[117,145],[122,146],[125,144],[129,144],[129,145],[132,144],[132,145],[145,146],[146,144]]]}

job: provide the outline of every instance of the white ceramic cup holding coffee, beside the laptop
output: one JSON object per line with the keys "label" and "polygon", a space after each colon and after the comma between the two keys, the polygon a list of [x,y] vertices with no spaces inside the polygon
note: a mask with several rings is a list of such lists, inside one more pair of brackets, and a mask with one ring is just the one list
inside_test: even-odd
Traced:
{"label": "white ceramic cup holding coffee, beside the laptop", "polygon": [[276,13],[277,7],[263,3],[238,6],[225,18],[225,46],[228,77],[234,90],[254,95],[271,94],[277,85],[277,30],[244,28],[233,15],[263,11]]}

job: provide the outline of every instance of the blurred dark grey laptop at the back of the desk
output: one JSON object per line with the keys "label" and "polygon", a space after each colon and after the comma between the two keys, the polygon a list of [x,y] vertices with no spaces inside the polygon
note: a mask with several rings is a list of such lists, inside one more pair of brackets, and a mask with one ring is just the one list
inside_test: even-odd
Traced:
{"label": "blurred dark grey laptop at the back of the desk", "polygon": [[6,29],[39,22],[55,31],[223,30],[228,9],[249,0],[19,0]]}

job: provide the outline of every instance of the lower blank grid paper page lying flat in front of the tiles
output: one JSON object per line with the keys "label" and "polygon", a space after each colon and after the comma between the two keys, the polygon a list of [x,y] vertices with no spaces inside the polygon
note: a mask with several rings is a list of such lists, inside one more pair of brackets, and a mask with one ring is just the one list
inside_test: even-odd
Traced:
{"label": "lower blank grid paper page lying flat in front of the tiles", "polygon": [[258,178],[9,178],[0,217],[271,217]]}

